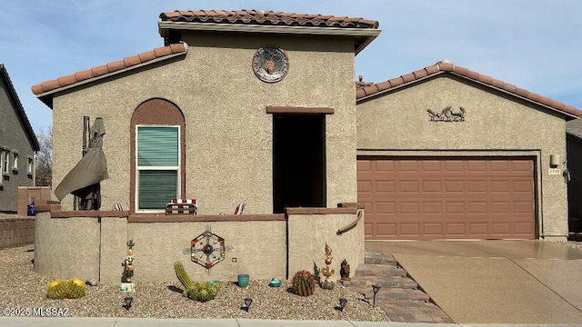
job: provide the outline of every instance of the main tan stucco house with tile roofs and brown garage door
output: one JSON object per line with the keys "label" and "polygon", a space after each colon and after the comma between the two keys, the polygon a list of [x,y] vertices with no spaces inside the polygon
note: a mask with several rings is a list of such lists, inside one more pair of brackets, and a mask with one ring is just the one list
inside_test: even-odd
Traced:
{"label": "main tan stucco house with tile roofs and brown garage door", "polygon": [[448,62],[355,87],[354,55],[380,33],[362,18],[160,17],[165,47],[33,86],[53,109],[55,185],[80,159],[86,115],[107,131],[105,210],[360,202],[367,239],[567,236],[550,157],[566,158],[576,108]]}

